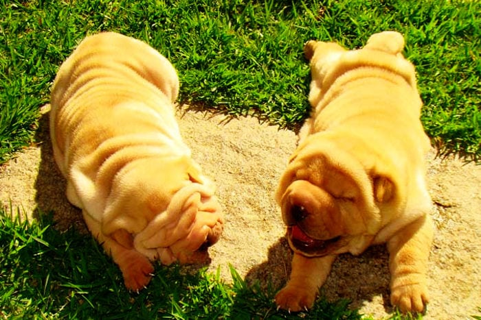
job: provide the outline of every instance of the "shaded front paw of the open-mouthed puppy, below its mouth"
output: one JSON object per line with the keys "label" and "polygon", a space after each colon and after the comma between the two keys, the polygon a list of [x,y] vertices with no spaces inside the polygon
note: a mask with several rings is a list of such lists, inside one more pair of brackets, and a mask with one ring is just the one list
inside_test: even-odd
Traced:
{"label": "shaded front paw of the open-mouthed puppy, below its mouth", "polygon": [[276,295],[276,304],[278,308],[294,312],[307,310],[313,306],[316,295],[315,290],[287,284]]}

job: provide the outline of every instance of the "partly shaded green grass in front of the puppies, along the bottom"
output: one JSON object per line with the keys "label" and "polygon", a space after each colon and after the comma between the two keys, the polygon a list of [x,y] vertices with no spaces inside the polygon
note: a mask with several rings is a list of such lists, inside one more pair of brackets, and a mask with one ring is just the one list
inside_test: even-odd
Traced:
{"label": "partly shaded green grass in front of the puppies, along the bottom", "polygon": [[[157,266],[147,289],[129,293],[122,273],[89,235],[60,233],[49,215],[33,223],[0,210],[1,319],[298,319],[273,295],[219,273]],[[361,319],[347,301],[320,299],[305,319]]]}

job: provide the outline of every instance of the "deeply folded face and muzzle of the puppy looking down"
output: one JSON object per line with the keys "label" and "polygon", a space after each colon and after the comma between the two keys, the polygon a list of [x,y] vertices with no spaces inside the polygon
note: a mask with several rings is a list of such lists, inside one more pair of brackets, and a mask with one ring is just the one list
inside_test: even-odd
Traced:
{"label": "deeply folded face and muzzle of the puppy looking down", "polygon": [[208,247],[223,231],[214,191],[214,184],[198,168],[191,168],[188,181],[175,191],[166,209],[135,235],[135,249],[164,264],[207,262]]}

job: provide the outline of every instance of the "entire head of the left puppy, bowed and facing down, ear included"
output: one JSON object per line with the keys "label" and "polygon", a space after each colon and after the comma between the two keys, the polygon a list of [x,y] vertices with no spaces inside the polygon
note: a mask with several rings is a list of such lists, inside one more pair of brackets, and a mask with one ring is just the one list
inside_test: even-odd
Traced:
{"label": "entire head of the left puppy, bowed and facing down, ear included", "polygon": [[[113,197],[103,232],[126,230],[137,251],[163,264],[207,262],[208,247],[223,231],[213,182],[188,156],[162,166],[148,165],[149,161],[158,160],[139,160],[129,164],[135,168],[119,175],[123,188],[111,193],[122,190],[117,193],[128,196]],[[122,243],[122,238],[116,239]]]}

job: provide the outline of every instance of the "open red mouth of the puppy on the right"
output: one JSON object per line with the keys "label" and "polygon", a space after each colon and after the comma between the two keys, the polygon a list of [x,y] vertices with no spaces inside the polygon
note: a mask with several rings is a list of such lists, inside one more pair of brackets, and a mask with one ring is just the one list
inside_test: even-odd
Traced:
{"label": "open red mouth of the puppy on the right", "polygon": [[287,228],[291,244],[298,250],[307,254],[328,254],[328,250],[337,243],[340,236],[328,240],[311,238],[297,225]]}

